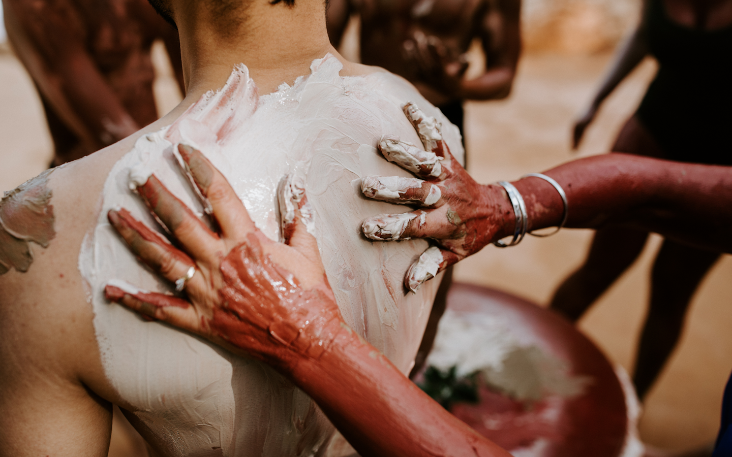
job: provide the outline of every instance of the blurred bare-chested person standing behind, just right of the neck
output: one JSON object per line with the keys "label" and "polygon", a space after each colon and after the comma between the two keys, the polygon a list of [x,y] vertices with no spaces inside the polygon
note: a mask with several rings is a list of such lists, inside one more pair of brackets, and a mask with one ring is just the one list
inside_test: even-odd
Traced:
{"label": "blurred bare-chested person standing behind, just right of the neck", "polygon": [[[330,0],[328,34],[335,48],[354,13],[361,17],[362,63],[409,80],[461,135],[464,100],[508,97],[521,50],[520,0]],[[465,53],[475,38],[485,69],[468,79]]]}

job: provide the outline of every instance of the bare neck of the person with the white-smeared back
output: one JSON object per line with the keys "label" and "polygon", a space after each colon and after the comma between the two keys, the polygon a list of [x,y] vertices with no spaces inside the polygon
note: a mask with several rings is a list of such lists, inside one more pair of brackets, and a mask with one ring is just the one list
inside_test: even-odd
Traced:
{"label": "bare neck of the person with the white-smeared back", "polygon": [[[269,4],[252,0],[228,23],[215,19],[206,1],[185,2],[176,11],[186,82],[184,105],[220,88],[236,64],[243,63],[259,94],[310,74],[310,63],[326,53],[343,61],[329,42],[323,0]],[[223,26],[229,26],[223,30]],[[346,61],[343,61],[344,64]]]}

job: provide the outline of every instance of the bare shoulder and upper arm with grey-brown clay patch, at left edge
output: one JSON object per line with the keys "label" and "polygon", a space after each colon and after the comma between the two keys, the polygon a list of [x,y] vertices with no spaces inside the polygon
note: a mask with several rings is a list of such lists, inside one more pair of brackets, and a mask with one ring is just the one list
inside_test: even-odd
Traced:
{"label": "bare shoulder and upper arm with grey-brown clay patch, at left edge", "polygon": [[58,223],[56,189],[30,182],[0,203],[0,456],[105,456],[110,405],[92,391],[111,388],[76,267],[81,236]]}

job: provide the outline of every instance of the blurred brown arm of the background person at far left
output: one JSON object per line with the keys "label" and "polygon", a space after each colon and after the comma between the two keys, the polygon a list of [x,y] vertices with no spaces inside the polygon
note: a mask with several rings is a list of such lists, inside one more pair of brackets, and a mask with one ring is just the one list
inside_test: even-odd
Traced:
{"label": "blurred brown arm of the background person at far left", "polygon": [[91,150],[137,129],[86,48],[86,26],[69,0],[4,0],[8,37],[39,90]]}

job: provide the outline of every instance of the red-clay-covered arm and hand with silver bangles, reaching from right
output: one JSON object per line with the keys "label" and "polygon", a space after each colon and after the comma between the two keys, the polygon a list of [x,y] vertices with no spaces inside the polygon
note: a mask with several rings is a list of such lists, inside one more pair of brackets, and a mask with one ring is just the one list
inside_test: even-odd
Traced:
{"label": "red-clay-covered arm and hand with silver bangles, reaching from right", "polygon": [[[397,140],[381,141],[379,150],[389,162],[423,179],[368,176],[362,192],[424,209],[374,216],[362,228],[376,241],[432,238],[436,246],[406,273],[405,285],[414,291],[447,266],[513,233],[515,216],[501,186],[477,184],[452,158],[435,119],[411,103],[405,113],[427,151]],[[725,236],[732,226],[731,167],[613,153],[569,162],[545,174],[567,194],[566,227],[631,224],[706,249],[731,249]],[[526,203],[529,231],[560,224],[564,205],[553,186],[535,177],[512,184]]]}

